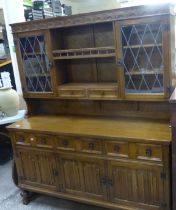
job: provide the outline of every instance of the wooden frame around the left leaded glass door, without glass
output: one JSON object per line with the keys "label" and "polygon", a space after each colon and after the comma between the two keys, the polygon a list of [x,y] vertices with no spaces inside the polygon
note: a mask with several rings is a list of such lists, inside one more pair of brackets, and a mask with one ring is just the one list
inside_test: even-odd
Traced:
{"label": "wooden frame around the left leaded glass door, without glass", "polygon": [[[25,77],[25,70],[24,65],[21,57],[21,50],[20,50],[20,38],[30,37],[30,36],[43,36],[45,38],[45,45],[46,45],[46,53],[49,62],[51,63],[50,68],[50,77],[51,77],[51,92],[32,92],[27,90],[26,84],[26,77]],[[56,72],[54,68],[54,61],[52,57],[52,49],[51,49],[51,35],[49,30],[42,30],[42,31],[33,31],[33,32],[24,32],[24,33],[16,33],[14,34],[14,42],[16,47],[16,54],[17,54],[17,62],[19,66],[19,73],[20,79],[22,83],[22,91],[24,93],[24,97],[26,98],[50,98],[56,96],[57,93],[57,81],[56,81]]]}

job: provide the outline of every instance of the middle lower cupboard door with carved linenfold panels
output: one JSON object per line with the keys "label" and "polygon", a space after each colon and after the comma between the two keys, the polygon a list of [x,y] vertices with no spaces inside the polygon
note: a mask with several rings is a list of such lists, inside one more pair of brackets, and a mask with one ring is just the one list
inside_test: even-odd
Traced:
{"label": "middle lower cupboard door with carved linenfold panels", "polygon": [[104,161],[61,155],[65,192],[86,198],[105,200]]}

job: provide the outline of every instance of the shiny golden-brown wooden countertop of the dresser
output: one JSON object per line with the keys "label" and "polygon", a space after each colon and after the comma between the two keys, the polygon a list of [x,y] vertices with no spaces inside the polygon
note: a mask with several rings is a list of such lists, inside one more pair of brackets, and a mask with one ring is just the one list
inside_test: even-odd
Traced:
{"label": "shiny golden-brown wooden countertop of the dresser", "polygon": [[169,122],[161,120],[34,116],[10,125],[8,128],[72,135],[171,141]]}

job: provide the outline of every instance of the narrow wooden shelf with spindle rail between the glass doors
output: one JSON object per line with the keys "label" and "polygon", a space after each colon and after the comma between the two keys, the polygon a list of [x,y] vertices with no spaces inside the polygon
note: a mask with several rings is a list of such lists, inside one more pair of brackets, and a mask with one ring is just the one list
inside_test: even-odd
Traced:
{"label": "narrow wooden shelf with spindle rail between the glass doors", "polygon": [[53,56],[55,60],[114,57],[115,48],[98,47],[98,48],[84,48],[84,49],[54,50]]}

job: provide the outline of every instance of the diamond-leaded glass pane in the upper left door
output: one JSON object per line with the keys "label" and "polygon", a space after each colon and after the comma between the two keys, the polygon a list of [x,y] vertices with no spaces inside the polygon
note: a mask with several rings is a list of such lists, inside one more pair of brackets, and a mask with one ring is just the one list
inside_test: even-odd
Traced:
{"label": "diamond-leaded glass pane in the upper left door", "polygon": [[44,36],[19,39],[27,91],[51,92],[51,75]]}

